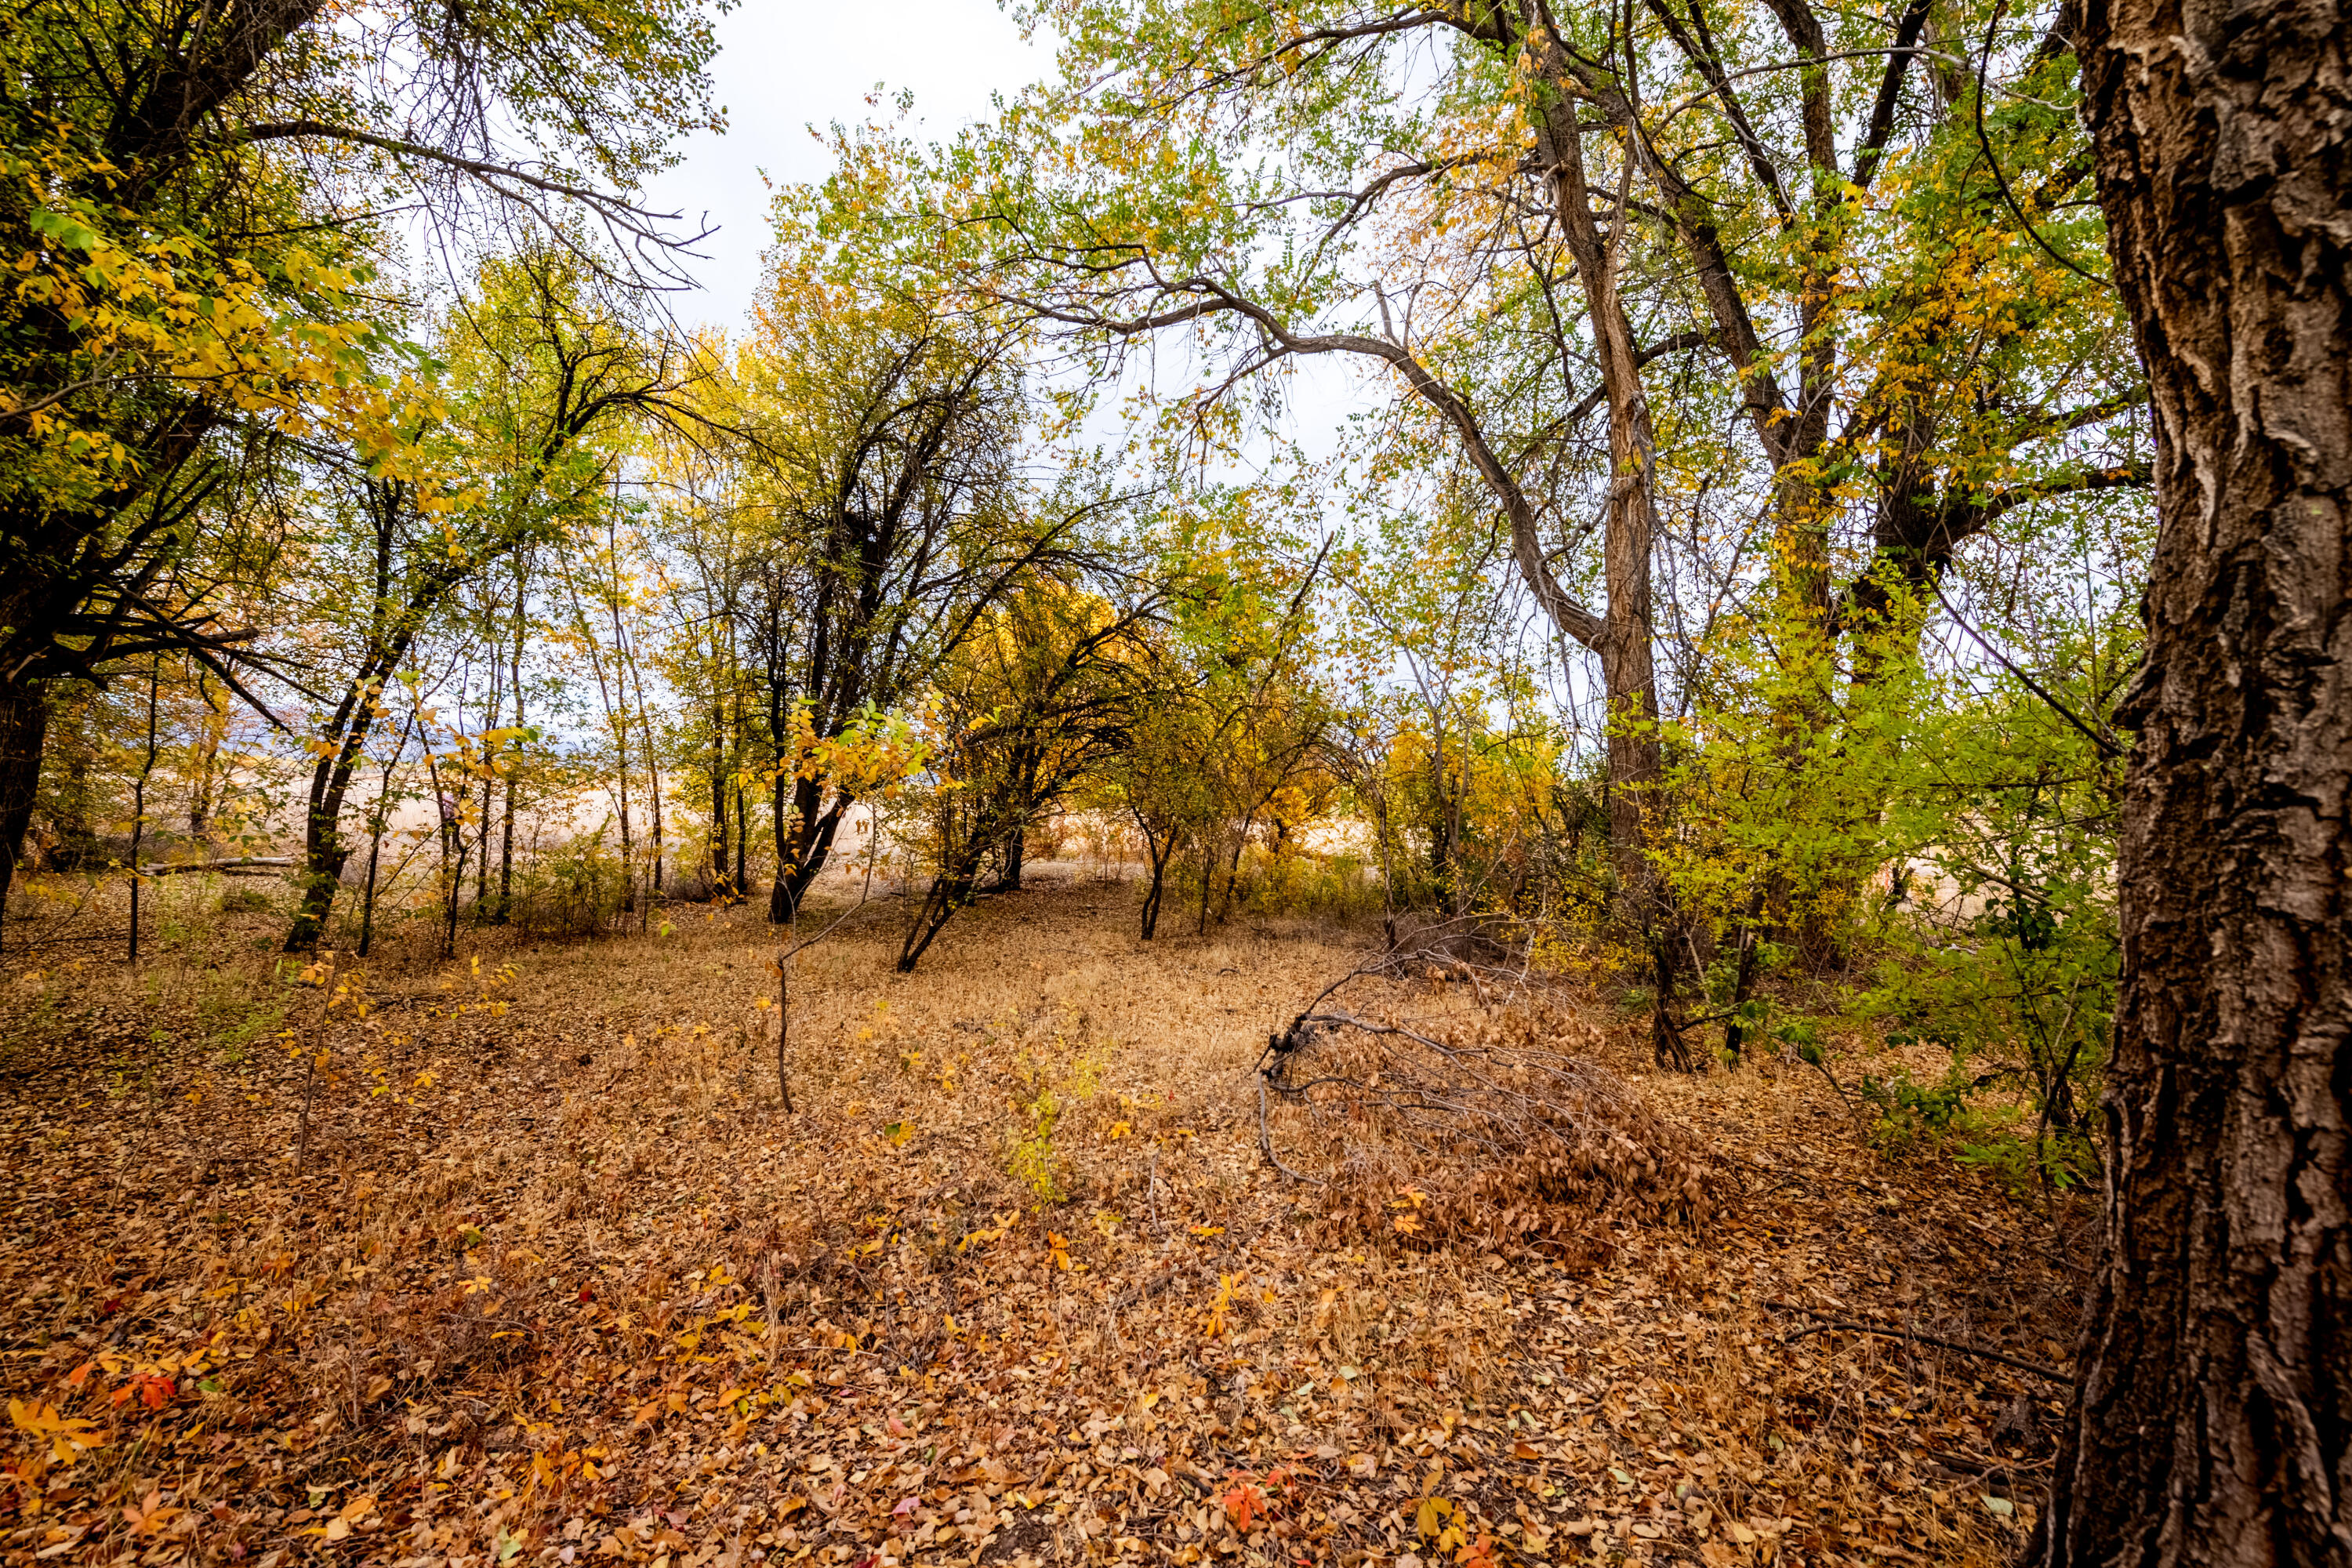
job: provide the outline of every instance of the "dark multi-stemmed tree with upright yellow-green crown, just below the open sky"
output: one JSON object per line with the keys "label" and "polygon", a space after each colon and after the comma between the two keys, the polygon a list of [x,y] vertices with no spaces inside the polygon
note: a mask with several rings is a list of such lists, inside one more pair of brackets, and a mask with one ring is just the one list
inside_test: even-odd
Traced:
{"label": "dark multi-stemmed tree with upright yellow-green crown, just below the open sky", "polygon": [[[748,545],[743,644],[760,668],[776,835],[769,917],[790,922],[854,804],[788,755],[906,705],[1098,501],[1033,505],[1018,329],[884,266],[851,167],[779,205],[757,327],[734,367]],[[847,233],[847,237],[842,237]],[[903,284],[903,287],[901,287]]]}

